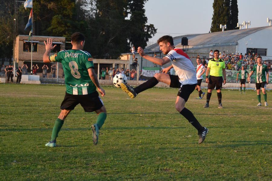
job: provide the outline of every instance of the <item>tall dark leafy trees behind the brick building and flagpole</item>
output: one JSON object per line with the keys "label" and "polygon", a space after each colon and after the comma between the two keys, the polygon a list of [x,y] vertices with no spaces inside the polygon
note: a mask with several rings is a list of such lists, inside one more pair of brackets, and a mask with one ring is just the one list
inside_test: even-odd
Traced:
{"label": "tall dark leafy trees behind the brick building and flagpole", "polygon": [[[14,33],[24,31],[30,8],[19,4],[17,32],[14,31],[15,1],[0,0],[0,57],[12,56]],[[94,58],[118,59],[130,47],[146,47],[157,29],[147,24],[144,4],[147,0],[34,0],[33,35],[71,37],[74,32],[86,36],[84,50]]]}

